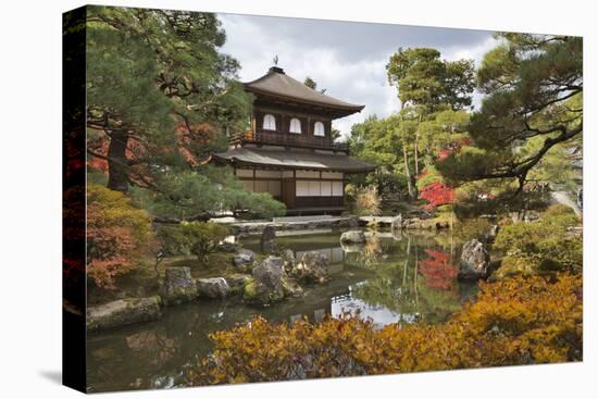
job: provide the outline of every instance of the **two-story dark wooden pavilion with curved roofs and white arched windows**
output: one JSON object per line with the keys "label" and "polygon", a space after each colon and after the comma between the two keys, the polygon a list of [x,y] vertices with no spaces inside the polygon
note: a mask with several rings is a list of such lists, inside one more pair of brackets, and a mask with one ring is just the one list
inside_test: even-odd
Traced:
{"label": "two-story dark wooden pavilion with curved roofs and white arched windows", "polygon": [[334,142],[332,121],[364,105],[326,96],[277,66],[245,89],[254,95],[251,128],[233,135],[228,150],[212,159],[233,165],[247,189],[283,201],[287,214],[344,211],[347,175],[375,167]]}

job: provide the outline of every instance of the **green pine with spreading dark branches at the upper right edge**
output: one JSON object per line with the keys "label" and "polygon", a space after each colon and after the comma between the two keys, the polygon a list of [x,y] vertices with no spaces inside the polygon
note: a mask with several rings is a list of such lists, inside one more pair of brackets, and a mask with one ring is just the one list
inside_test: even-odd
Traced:
{"label": "green pine with spreading dark branches at the upper right edge", "polygon": [[473,146],[439,165],[459,180],[511,179],[521,192],[556,146],[583,132],[581,37],[499,34],[477,72],[486,93],[469,126]]}

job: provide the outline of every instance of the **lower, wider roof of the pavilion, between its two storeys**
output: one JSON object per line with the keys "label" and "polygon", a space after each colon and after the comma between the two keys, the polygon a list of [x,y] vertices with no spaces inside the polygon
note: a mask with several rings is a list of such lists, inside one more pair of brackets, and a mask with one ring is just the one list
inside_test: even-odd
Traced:
{"label": "lower, wider roof of the pavilion, between its two storeys", "polygon": [[286,170],[312,170],[345,173],[372,172],[375,166],[351,158],[345,153],[322,153],[301,150],[273,150],[241,147],[226,152],[214,153],[216,161],[227,161],[237,165],[264,166]]}

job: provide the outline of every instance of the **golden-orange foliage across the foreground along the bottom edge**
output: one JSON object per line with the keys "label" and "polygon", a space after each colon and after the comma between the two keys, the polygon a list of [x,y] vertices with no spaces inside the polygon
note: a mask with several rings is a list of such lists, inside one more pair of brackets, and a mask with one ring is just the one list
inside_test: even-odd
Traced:
{"label": "golden-orange foliage across the foreground along the bottom edge", "polygon": [[437,325],[257,317],[212,334],[212,356],[188,377],[221,384],[577,361],[582,331],[580,275],[516,277],[482,283],[476,302]]}

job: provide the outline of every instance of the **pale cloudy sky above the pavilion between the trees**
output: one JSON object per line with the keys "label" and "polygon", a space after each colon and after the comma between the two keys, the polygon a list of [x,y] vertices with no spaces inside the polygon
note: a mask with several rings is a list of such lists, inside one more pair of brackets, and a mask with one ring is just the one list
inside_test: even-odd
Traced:
{"label": "pale cloudy sky above the pavilion between the trees", "polygon": [[236,14],[219,17],[227,36],[223,51],[240,62],[242,82],[264,75],[278,55],[278,66],[296,79],[310,76],[327,95],[364,104],[361,113],[334,122],[342,135],[371,114],[387,116],[399,109],[385,68],[399,47],[432,47],[446,60],[473,59],[477,65],[496,46],[487,30]]}

